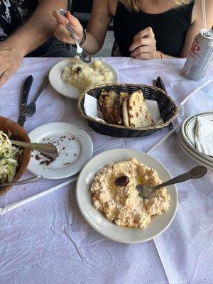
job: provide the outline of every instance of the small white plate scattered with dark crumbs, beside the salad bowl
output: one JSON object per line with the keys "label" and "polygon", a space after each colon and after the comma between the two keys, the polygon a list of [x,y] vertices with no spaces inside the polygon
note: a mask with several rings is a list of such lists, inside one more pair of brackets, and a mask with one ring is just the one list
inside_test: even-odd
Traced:
{"label": "small white plate scattered with dark crumbs, beside the salad bowl", "polygon": [[60,155],[55,160],[33,151],[28,170],[43,178],[67,178],[78,173],[92,157],[93,145],[88,134],[64,122],[39,126],[28,134],[33,143],[53,143]]}

